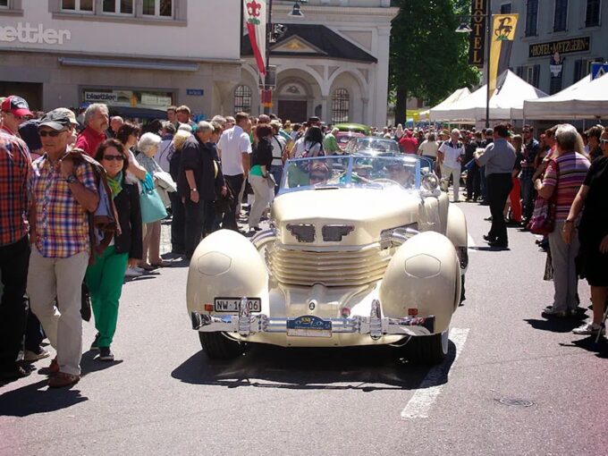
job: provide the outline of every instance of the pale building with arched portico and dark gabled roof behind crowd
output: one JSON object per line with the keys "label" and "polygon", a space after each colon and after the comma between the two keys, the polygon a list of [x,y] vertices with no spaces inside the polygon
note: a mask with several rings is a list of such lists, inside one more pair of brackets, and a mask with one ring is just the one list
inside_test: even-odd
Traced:
{"label": "pale building with arched portico and dark gabled roof behind crowd", "polygon": [[[386,124],[391,21],[389,0],[309,0],[293,19],[293,0],[273,0],[273,22],[285,25],[269,46],[276,66],[272,111],[301,122],[317,115],[327,123]],[[249,38],[242,38],[241,81],[234,110],[262,112],[258,69]]]}

